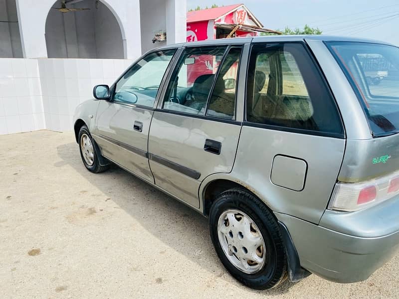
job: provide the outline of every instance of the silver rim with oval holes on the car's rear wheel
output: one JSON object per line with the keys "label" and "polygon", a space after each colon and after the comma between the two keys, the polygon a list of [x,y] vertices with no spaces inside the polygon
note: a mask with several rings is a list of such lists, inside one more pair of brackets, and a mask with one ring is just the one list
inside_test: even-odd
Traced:
{"label": "silver rim with oval holes on the car's rear wheel", "polygon": [[229,209],[217,221],[220,246],[238,270],[254,274],[266,263],[266,246],[258,226],[245,213]]}

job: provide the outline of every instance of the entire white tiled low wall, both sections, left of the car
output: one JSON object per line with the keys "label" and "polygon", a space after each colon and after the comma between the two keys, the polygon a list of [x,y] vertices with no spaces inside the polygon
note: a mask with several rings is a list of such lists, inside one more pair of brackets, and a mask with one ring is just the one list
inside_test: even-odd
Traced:
{"label": "entire white tiled low wall, both sections, left of the car", "polygon": [[128,59],[0,59],[0,134],[72,130],[75,107],[111,85]]}

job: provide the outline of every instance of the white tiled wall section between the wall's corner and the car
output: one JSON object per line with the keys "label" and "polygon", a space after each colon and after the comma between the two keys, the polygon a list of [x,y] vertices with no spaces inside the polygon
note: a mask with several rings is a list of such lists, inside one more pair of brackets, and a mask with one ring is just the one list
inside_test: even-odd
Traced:
{"label": "white tiled wall section between the wall's corner and the car", "polygon": [[38,59],[46,128],[72,130],[75,107],[94,85],[111,85],[132,63],[125,59]]}

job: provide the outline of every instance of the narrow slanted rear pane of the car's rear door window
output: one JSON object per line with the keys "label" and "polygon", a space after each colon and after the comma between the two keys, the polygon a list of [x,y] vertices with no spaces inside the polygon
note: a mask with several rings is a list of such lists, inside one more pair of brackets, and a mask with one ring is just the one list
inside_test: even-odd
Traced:
{"label": "narrow slanted rear pane of the car's rear door window", "polygon": [[235,93],[241,48],[231,48],[220,67],[206,115],[234,119]]}

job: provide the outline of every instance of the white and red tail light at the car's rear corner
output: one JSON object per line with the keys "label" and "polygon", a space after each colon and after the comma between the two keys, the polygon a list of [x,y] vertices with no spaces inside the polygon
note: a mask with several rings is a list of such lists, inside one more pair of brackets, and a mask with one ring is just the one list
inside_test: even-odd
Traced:
{"label": "white and red tail light at the car's rear corner", "polygon": [[329,209],[358,211],[399,194],[399,172],[360,183],[338,182]]}

